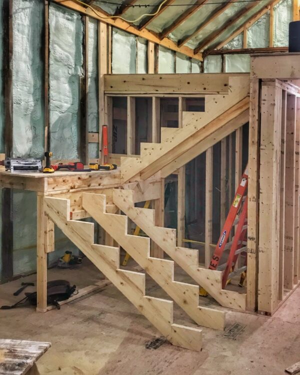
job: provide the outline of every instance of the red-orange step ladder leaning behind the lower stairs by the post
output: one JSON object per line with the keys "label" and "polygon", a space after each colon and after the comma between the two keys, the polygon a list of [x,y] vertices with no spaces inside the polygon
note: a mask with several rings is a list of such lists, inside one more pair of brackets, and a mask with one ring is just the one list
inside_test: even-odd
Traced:
{"label": "red-orange step ladder leaning behind the lower stairs by the post", "polygon": [[[214,253],[209,263],[209,269],[223,271],[222,288],[224,289],[227,281],[232,276],[241,273],[241,280],[246,271],[246,259],[244,265],[236,268],[237,259],[241,253],[246,254],[247,251],[247,187],[248,187],[248,166],[246,166],[240,183],[235,192],[234,199],[229,208],[227,218],[221,230],[221,235],[217,241]],[[235,226],[233,240],[228,242],[232,227]],[[226,249],[229,249],[227,260],[219,265],[220,259]],[[240,282],[241,283],[241,282]]]}

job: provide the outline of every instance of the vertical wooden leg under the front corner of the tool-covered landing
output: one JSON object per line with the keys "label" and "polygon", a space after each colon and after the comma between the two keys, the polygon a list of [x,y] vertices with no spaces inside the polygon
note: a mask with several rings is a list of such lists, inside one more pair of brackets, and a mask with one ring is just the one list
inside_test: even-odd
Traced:
{"label": "vertical wooden leg under the front corner of the tool-covered landing", "polygon": [[37,195],[37,246],[36,246],[36,279],[37,306],[36,311],[47,309],[47,253],[45,251],[45,214],[43,195]]}

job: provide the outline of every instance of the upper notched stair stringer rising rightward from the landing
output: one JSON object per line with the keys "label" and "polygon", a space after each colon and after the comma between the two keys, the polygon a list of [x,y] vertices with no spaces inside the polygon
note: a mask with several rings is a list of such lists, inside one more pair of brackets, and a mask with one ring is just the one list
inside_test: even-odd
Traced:
{"label": "upper notched stair stringer rising rightward from the landing", "polygon": [[248,110],[248,91],[249,77],[233,76],[228,94],[205,95],[204,112],[183,112],[181,128],[161,128],[161,143],[141,143],[140,157],[121,157],[122,183],[150,177],[217,133]]}

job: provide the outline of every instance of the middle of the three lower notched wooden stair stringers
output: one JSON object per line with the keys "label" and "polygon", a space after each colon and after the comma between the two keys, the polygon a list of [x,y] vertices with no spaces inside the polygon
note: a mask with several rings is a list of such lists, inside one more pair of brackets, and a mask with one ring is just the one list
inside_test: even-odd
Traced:
{"label": "middle of the three lower notched wooden stair stringers", "polygon": [[[131,199],[133,199],[132,194]],[[149,238],[127,234],[127,216],[107,213],[105,195],[83,193],[82,205],[197,324],[217,329],[224,328],[224,312],[199,306],[199,286],[175,281],[174,262],[151,257]],[[147,222],[154,223],[154,210],[145,208],[144,212]],[[164,231],[167,238],[174,238],[173,229],[160,229]]]}

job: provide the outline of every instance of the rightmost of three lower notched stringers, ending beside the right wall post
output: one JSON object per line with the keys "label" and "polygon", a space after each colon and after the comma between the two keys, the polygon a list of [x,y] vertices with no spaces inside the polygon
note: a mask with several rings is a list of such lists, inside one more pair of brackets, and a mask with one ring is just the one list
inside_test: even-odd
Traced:
{"label": "rightmost of three lower notched stringers, ending beside the right wall post", "polygon": [[[198,250],[176,246],[176,229],[154,225],[154,210],[134,207],[133,191],[113,189],[113,203],[224,307],[245,310],[246,294],[222,289],[220,271],[198,266]],[[152,212],[150,212],[152,211]]]}

